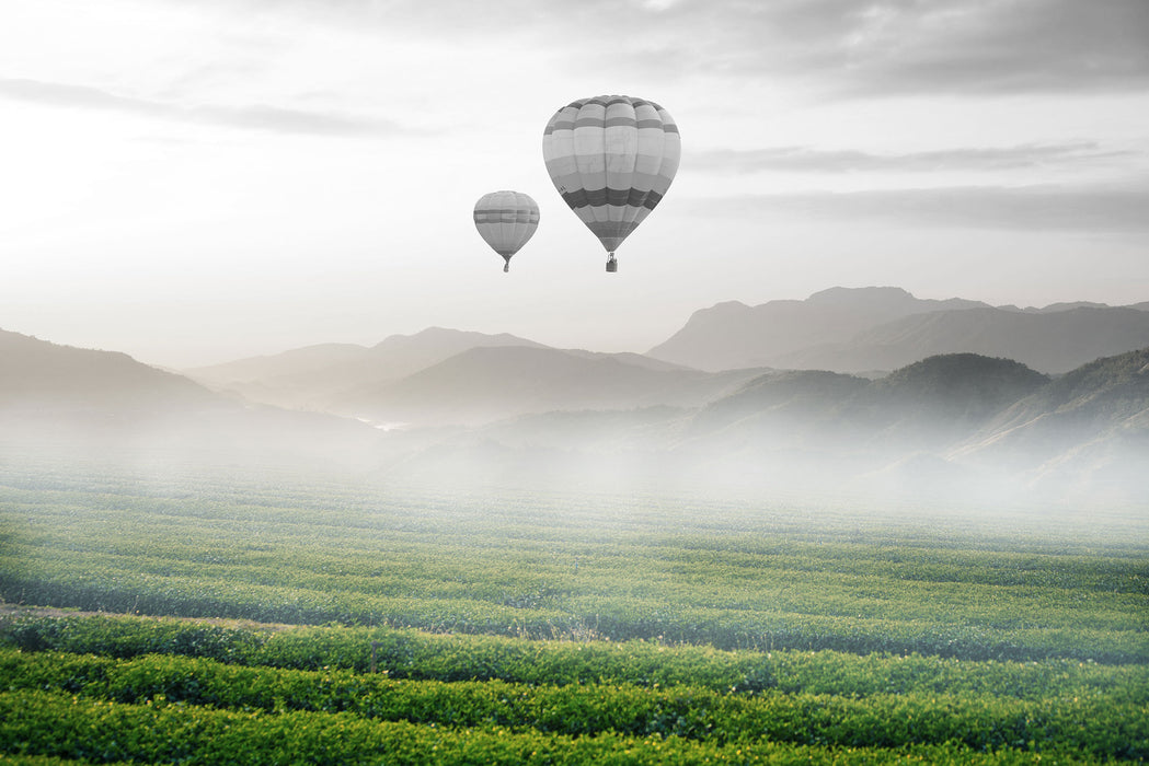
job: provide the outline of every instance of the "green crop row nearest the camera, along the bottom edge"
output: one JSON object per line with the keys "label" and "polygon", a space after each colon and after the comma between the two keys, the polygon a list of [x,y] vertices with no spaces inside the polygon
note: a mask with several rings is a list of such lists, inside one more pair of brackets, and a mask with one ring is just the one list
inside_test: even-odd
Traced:
{"label": "green crop row nearest the camera, along the bottom edge", "polygon": [[[349,713],[132,705],[43,691],[0,693],[0,751],[88,763],[392,764],[1095,764],[1085,753],[978,752],[946,743],[896,749],[786,742],[719,745],[602,733],[571,737],[499,726],[444,728]],[[16,763],[20,763],[18,760]],[[43,763],[31,760],[28,763]]]}

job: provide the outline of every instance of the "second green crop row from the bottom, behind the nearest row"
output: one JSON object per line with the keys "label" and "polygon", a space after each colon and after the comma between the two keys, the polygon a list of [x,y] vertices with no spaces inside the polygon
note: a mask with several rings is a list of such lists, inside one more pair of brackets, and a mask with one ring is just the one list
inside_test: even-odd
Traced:
{"label": "second green crop row from the bottom, behind the nearest row", "polygon": [[770,740],[851,748],[961,743],[976,750],[1079,751],[1149,757],[1149,705],[1102,694],[1044,699],[920,693],[864,698],[720,694],[695,687],[506,681],[399,681],[352,671],[287,671],[147,656],[0,651],[8,690],[47,690],[133,704],[242,711],[349,712],[449,727],[498,726],[568,736],[615,732],[719,744]]}

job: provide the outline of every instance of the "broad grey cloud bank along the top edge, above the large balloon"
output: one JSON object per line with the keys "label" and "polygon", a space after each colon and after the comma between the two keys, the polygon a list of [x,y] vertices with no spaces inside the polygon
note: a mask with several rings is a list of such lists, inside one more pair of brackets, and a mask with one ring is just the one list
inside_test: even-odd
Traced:
{"label": "broad grey cloud bank along the top edge, above the large balloon", "polygon": [[823,94],[1149,91],[1146,0],[238,0],[244,15],[543,46],[584,72]]}

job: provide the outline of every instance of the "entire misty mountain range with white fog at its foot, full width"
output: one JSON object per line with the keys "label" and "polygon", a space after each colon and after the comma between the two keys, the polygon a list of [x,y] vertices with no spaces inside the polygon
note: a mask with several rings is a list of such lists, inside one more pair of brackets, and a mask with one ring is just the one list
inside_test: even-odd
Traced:
{"label": "entire misty mountain range with white fog at its foot, full width", "polygon": [[647,354],[432,327],[183,374],[0,340],[9,449],[95,441],[461,485],[671,481],[971,503],[1149,492],[1144,305],[833,288],[700,310]]}

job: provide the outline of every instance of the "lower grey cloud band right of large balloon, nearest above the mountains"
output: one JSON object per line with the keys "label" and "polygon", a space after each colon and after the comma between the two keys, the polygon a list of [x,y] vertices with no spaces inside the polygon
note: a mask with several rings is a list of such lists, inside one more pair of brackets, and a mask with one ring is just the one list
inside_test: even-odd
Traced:
{"label": "lower grey cloud band right of large balloon, nearest above the mountains", "polygon": [[1149,184],[951,186],[694,200],[716,216],[803,215],[969,229],[1149,233]]}

